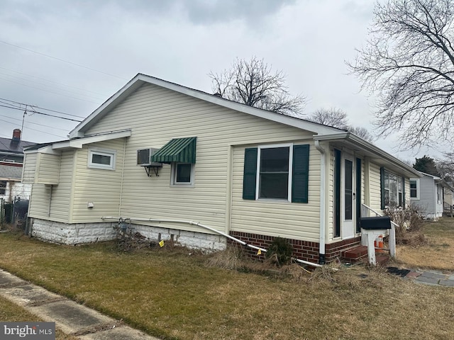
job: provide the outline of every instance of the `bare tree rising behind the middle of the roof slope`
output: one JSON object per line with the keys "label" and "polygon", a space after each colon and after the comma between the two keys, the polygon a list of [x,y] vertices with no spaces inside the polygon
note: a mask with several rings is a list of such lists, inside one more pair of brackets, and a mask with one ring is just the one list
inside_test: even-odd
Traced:
{"label": "bare tree rising behind the middle of the roof slope", "polygon": [[284,115],[299,115],[304,96],[290,96],[282,71],[272,72],[263,60],[237,59],[221,74],[209,73],[215,94],[255,108]]}

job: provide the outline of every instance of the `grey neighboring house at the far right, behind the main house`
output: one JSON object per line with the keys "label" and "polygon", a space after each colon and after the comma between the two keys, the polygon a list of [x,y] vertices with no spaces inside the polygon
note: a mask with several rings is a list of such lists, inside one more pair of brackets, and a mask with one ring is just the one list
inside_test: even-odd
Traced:
{"label": "grey neighboring house at the far right, behind the main house", "polygon": [[452,195],[453,188],[438,176],[424,172],[421,175],[420,179],[410,179],[411,203],[418,207],[423,217],[438,220],[443,215],[445,193]]}

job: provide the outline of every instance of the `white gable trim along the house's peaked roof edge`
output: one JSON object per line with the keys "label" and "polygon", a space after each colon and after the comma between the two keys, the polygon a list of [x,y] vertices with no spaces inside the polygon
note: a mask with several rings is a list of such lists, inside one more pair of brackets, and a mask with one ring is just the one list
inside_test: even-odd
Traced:
{"label": "white gable trim along the house's peaked roof edge", "polygon": [[128,84],[123,86],[114,96],[111,96],[106,102],[104,102],[99,108],[96,109],[91,115],[85,118],[82,123],[77,125],[74,130],[70,132],[69,137],[85,137],[84,132],[91,128],[98,120],[100,120],[104,115],[109,113],[113,108],[115,108],[119,103],[125,100],[130,96],[135,90],[137,90],[143,84],[153,84],[156,86],[163,87],[165,89],[170,89],[172,91],[179,92],[180,94],[186,94],[187,96],[192,96],[194,98],[199,98],[202,101],[207,101],[209,103],[214,103],[218,106],[223,106],[225,108],[231,108],[235,111],[240,111],[243,113],[248,113],[250,115],[255,115],[257,117],[265,118],[267,120],[272,120],[277,123],[282,123],[285,125],[291,125],[295,128],[300,128],[303,130],[314,132],[314,134],[327,134],[335,132],[345,132],[345,130],[340,130],[333,128],[331,126],[321,125],[319,123],[310,122],[309,120],[304,120],[301,118],[289,117],[288,115],[281,115],[272,111],[262,110],[260,108],[253,108],[252,106],[247,106],[245,104],[237,103],[236,101],[229,101],[227,99],[221,98],[214,94],[207,94],[204,91],[199,91],[195,89],[190,89],[189,87],[182,86],[179,84],[172,83],[170,81],[165,81],[159,78],[150,77],[145,74],[137,74],[131,81],[128,81]]}

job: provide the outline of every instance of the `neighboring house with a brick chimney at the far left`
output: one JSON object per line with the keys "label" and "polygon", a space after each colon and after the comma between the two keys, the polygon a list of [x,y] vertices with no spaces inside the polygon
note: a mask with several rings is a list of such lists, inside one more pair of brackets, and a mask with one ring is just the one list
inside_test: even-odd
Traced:
{"label": "neighboring house with a brick chimney at the far left", "polygon": [[23,148],[35,143],[21,140],[21,130],[13,130],[13,137],[0,138],[0,198],[13,202],[15,197],[28,199],[31,184],[21,183]]}

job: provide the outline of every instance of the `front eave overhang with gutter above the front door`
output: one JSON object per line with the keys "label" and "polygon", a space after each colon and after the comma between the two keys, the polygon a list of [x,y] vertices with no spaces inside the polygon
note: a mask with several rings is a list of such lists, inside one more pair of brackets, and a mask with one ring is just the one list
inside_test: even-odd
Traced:
{"label": "front eave overhang with gutter above the front door", "polygon": [[[338,142],[354,151],[360,152],[370,159],[381,163],[380,160],[383,160],[386,164],[383,164],[385,167],[391,170],[399,170],[402,174],[407,177],[416,177],[420,178],[422,175],[416,169],[413,169],[408,164],[405,164],[400,159],[388,154],[384,150],[376,147],[375,145],[362,140],[362,138],[353,135],[351,132],[339,132],[331,135],[315,135],[314,140],[326,141],[326,142]],[[386,166],[387,165],[387,166]]]}

